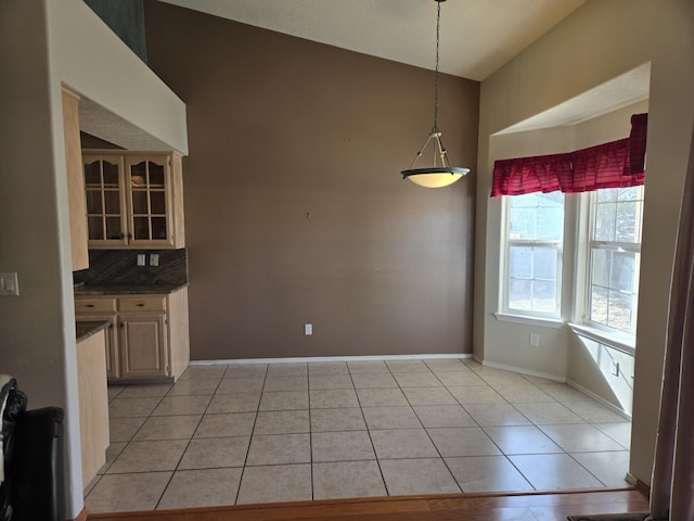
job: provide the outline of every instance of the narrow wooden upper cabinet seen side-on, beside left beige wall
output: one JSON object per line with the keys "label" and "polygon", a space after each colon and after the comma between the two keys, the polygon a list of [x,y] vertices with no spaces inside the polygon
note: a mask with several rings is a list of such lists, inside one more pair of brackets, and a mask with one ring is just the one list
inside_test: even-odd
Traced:
{"label": "narrow wooden upper cabinet seen side-on, beside left beige wall", "polygon": [[87,249],[87,206],[82,151],[79,143],[79,98],[63,89],[63,132],[65,137],[65,168],[69,206],[69,237],[73,250],[73,271],[89,267]]}

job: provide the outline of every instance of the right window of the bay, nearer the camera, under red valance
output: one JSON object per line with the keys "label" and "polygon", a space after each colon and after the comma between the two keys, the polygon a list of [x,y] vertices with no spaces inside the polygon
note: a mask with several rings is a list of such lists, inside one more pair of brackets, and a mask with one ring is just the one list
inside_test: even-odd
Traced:
{"label": "right window of the bay, nearer the camera, under red valance", "polygon": [[597,190],[592,200],[588,322],[635,334],[643,187]]}

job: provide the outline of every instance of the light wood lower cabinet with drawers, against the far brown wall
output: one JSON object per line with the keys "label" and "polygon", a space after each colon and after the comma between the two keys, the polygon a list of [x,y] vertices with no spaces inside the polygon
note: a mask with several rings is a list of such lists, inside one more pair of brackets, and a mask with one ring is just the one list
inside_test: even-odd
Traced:
{"label": "light wood lower cabinet with drawers, against the far brown wall", "polygon": [[108,381],[176,381],[190,361],[188,288],[167,295],[76,296],[78,320],[106,328]]}

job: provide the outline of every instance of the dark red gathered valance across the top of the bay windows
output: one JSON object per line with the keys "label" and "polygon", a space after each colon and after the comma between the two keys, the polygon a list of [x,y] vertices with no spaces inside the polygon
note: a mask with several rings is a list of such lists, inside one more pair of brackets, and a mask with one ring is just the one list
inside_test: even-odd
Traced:
{"label": "dark red gathered valance across the top of the bay windows", "polygon": [[647,114],[633,115],[629,138],[618,141],[565,154],[497,161],[491,196],[643,185],[647,118]]}

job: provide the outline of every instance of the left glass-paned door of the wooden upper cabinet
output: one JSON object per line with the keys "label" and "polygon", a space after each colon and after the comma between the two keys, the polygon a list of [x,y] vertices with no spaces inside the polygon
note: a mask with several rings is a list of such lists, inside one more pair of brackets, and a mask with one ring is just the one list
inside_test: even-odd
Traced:
{"label": "left glass-paned door of the wooden upper cabinet", "polygon": [[118,156],[85,155],[87,223],[91,243],[124,243],[124,201]]}

